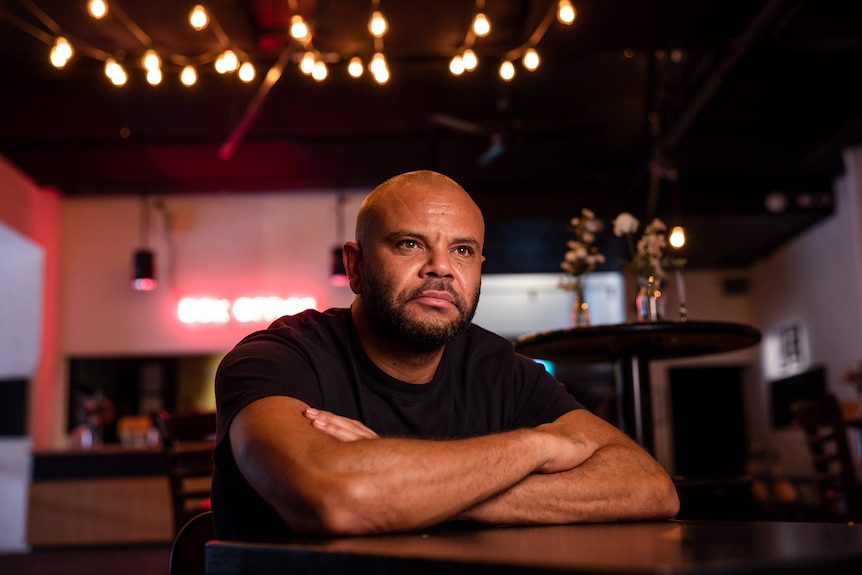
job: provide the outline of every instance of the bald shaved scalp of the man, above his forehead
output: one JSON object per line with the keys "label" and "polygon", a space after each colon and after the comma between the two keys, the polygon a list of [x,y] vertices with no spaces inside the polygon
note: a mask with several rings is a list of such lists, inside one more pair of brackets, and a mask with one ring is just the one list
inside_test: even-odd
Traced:
{"label": "bald shaved scalp of the man, above his forehead", "polygon": [[406,172],[389,178],[368,194],[356,217],[356,241],[361,245],[368,234],[377,228],[387,215],[392,215],[405,206],[439,203],[464,211],[475,217],[480,225],[480,238],[484,237],[484,220],[479,206],[455,180],[431,170]]}

